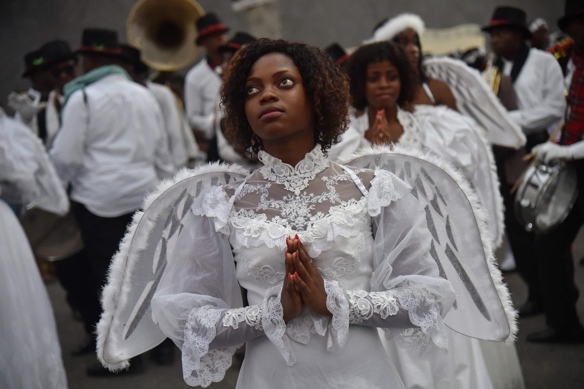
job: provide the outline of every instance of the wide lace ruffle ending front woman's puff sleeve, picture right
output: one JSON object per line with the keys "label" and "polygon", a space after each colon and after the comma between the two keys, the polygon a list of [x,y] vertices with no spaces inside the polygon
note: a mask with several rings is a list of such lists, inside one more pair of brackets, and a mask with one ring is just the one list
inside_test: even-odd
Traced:
{"label": "wide lace ruffle ending front woman's puff sleeve, picture right", "polygon": [[446,327],[440,315],[440,306],[432,293],[423,289],[401,287],[392,289],[399,306],[408,311],[409,321],[416,327],[400,329],[397,334],[384,328],[385,337],[395,336],[399,346],[416,358],[430,359],[448,351]]}

